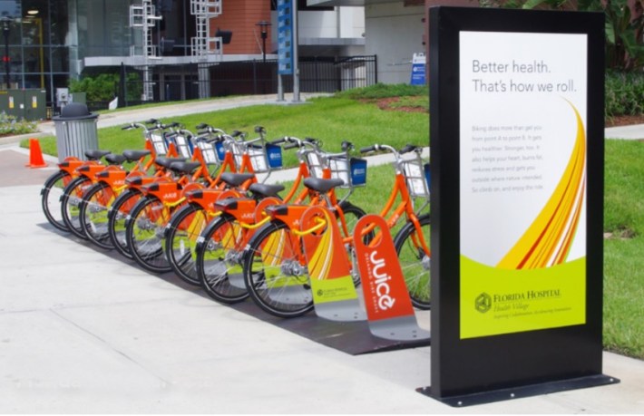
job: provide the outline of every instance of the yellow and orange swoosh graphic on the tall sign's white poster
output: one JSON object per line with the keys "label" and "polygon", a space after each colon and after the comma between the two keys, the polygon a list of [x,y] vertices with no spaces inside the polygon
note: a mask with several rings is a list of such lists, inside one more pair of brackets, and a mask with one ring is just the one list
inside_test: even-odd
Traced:
{"label": "yellow and orange swoosh graphic on the tall sign's white poster", "polygon": [[579,226],[586,189],[586,134],[579,111],[577,137],[563,176],[539,216],[514,247],[496,265],[508,269],[533,269],[565,262]]}

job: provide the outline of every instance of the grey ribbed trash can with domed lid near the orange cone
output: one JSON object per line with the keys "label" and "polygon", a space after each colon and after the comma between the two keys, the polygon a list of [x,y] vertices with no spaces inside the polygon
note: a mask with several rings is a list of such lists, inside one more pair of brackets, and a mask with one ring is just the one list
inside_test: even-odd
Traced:
{"label": "grey ribbed trash can with domed lid near the orange cone", "polygon": [[61,115],[53,118],[59,161],[68,156],[86,160],[85,150],[98,150],[97,119],[98,114],[78,102],[65,105]]}

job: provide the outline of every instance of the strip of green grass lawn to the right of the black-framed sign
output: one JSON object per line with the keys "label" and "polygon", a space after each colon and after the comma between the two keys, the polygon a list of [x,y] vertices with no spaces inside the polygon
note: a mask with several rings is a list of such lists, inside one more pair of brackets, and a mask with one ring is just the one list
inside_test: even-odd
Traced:
{"label": "strip of green grass lawn to the right of the black-framed sign", "polygon": [[644,358],[644,143],[607,140],[605,175],[604,345]]}

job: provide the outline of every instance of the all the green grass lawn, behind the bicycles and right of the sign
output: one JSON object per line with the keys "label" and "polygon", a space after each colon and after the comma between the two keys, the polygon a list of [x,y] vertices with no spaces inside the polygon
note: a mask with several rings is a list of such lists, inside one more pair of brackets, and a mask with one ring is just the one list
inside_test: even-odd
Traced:
{"label": "all the green grass lawn, behind the bicycles and right of the sign", "polygon": [[[400,95],[405,95],[401,93]],[[207,122],[224,131],[249,131],[264,126],[268,138],[289,135],[315,137],[323,149],[339,151],[342,140],[356,149],[374,143],[396,148],[406,143],[426,145],[429,115],[426,112],[382,111],[368,96],[324,97],[307,105],[259,105],[177,117],[193,129]],[[377,98],[377,97],[376,97]],[[401,105],[414,99],[405,98]],[[423,99],[421,99],[423,101]],[[424,103],[422,104],[424,105]],[[141,131],[119,127],[99,131],[102,149],[118,152],[141,149]],[[44,152],[55,155],[55,138],[41,140]],[[604,247],[604,344],[606,349],[644,359],[644,143],[607,140]],[[292,151],[285,151],[285,165],[295,166]],[[368,169],[367,185],[351,200],[367,212],[377,213],[394,178],[390,165]]]}

